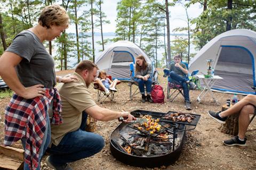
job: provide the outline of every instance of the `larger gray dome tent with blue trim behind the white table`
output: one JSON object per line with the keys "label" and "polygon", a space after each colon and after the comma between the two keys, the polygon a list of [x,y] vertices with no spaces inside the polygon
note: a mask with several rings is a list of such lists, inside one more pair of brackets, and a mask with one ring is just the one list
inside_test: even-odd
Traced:
{"label": "larger gray dome tent with blue trim behind the white table", "polygon": [[189,70],[207,73],[206,60],[213,60],[214,74],[223,79],[212,86],[213,90],[240,94],[255,94],[256,86],[256,32],[235,29],[213,38],[191,60]]}

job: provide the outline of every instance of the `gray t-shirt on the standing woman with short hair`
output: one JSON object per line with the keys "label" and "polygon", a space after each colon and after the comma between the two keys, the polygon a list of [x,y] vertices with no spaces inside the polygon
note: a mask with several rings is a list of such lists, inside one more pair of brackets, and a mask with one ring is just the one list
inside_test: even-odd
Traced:
{"label": "gray t-shirt on the standing woman with short hair", "polygon": [[54,60],[33,32],[20,32],[14,37],[6,52],[15,53],[23,58],[16,67],[23,86],[43,84],[45,88],[50,89],[55,86]]}

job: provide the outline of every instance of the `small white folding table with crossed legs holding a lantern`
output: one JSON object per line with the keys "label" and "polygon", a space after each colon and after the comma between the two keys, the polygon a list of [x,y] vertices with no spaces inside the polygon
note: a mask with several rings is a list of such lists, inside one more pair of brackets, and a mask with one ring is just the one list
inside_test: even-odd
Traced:
{"label": "small white folding table with crossed legs holding a lantern", "polygon": [[199,79],[201,79],[204,82],[204,89],[201,92],[201,94],[199,94],[199,96],[197,97],[197,101],[198,103],[201,103],[201,100],[205,97],[205,95],[207,94],[207,92],[210,93],[211,98],[213,99],[213,101],[215,103],[218,104],[217,99],[214,98],[211,87],[213,86],[213,84],[217,81],[222,79],[221,77],[219,77],[219,75],[213,75],[213,77],[211,78],[205,78],[204,75],[196,75]]}

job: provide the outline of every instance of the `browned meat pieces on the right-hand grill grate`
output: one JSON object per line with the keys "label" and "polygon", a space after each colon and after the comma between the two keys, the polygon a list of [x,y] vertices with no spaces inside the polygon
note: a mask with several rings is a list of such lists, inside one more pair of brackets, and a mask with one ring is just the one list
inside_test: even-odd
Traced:
{"label": "browned meat pieces on the right-hand grill grate", "polygon": [[177,113],[171,113],[171,114],[165,115],[163,118],[169,119],[173,122],[186,122],[187,121],[188,123],[191,123],[195,117],[191,116],[188,113],[177,112]]}

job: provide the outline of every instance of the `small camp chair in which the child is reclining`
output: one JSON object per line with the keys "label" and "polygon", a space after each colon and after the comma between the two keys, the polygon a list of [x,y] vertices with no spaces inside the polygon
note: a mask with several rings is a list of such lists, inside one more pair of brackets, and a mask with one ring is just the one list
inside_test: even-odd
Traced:
{"label": "small camp chair in which the child is reclining", "polygon": [[[107,78],[109,78],[109,79],[112,81],[111,75],[107,75]],[[116,85],[117,85],[117,84],[120,84],[120,83],[121,83],[121,81],[118,81],[118,82],[116,83]],[[114,99],[115,99],[115,91],[109,90],[110,93],[107,95],[106,92],[105,92],[105,89],[101,88],[101,87],[99,86],[99,83],[94,82],[93,85],[94,85],[93,88],[98,90],[98,95],[97,95],[97,96],[98,96],[98,100],[97,100],[97,101],[100,101],[101,104],[102,104],[107,98],[108,98],[110,101],[115,101],[115,100],[114,100]]]}

